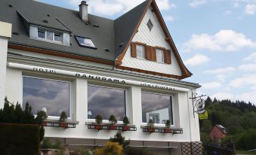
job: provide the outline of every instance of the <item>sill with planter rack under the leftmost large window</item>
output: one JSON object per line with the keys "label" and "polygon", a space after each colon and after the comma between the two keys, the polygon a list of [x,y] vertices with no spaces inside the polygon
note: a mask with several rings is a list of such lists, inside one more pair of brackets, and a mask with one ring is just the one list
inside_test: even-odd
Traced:
{"label": "sill with planter rack under the leftmost large window", "polygon": [[66,120],[60,122],[60,120],[43,120],[42,126],[52,126],[52,127],[63,127],[63,128],[76,128],[76,124],[79,124],[79,121]]}

